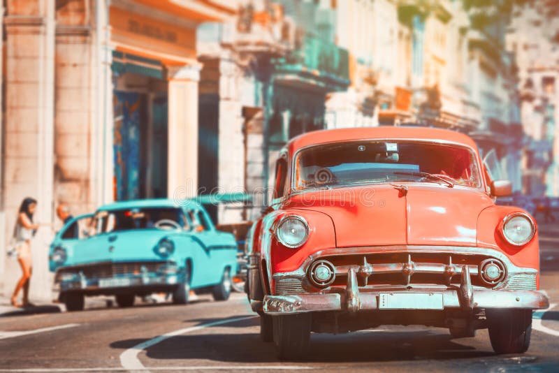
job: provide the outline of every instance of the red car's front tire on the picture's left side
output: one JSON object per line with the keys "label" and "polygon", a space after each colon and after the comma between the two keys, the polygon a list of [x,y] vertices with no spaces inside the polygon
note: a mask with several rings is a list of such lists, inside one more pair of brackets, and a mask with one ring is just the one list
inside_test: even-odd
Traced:
{"label": "red car's front tire on the picture's left side", "polygon": [[274,344],[281,360],[300,360],[310,344],[311,315],[272,316]]}

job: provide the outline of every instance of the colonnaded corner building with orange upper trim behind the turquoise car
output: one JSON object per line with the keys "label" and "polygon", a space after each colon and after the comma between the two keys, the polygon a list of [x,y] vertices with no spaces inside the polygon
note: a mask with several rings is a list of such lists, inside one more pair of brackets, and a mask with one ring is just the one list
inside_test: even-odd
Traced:
{"label": "colonnaded corner building with orange upper trim behind the turquoise car", "polygon": [[[26,196],[36,221],[59,226],[112,200],[196,195],[196,29],[235,17],[237,1],[6,0],[2,22],[2,244]],[[49,296],[46,246],[38,231],[32,291]],[[15,261],[0,256],[11,291]]]}

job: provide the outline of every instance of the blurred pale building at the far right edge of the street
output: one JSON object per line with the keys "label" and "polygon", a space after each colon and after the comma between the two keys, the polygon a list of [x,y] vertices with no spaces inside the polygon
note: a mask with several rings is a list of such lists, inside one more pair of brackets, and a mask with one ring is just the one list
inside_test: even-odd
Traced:
{"label": "blurred pale building at the far right edge of the street", "polygon": [[515,6],[507,47],[516,56],[521,118],[527,142],[524,192],[559,196],[559,3]]}

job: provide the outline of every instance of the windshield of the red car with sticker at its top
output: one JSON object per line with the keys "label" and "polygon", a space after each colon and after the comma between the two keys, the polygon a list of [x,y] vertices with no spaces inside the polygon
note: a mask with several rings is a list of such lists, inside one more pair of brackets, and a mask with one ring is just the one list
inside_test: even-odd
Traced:
{"label": "windshield of the red car with sticker at its top", "polygon": [[361,141],[320,145],[296,158],[295,188],[379,182],[437,182],[479,187],[474,153],[430,142]]}

